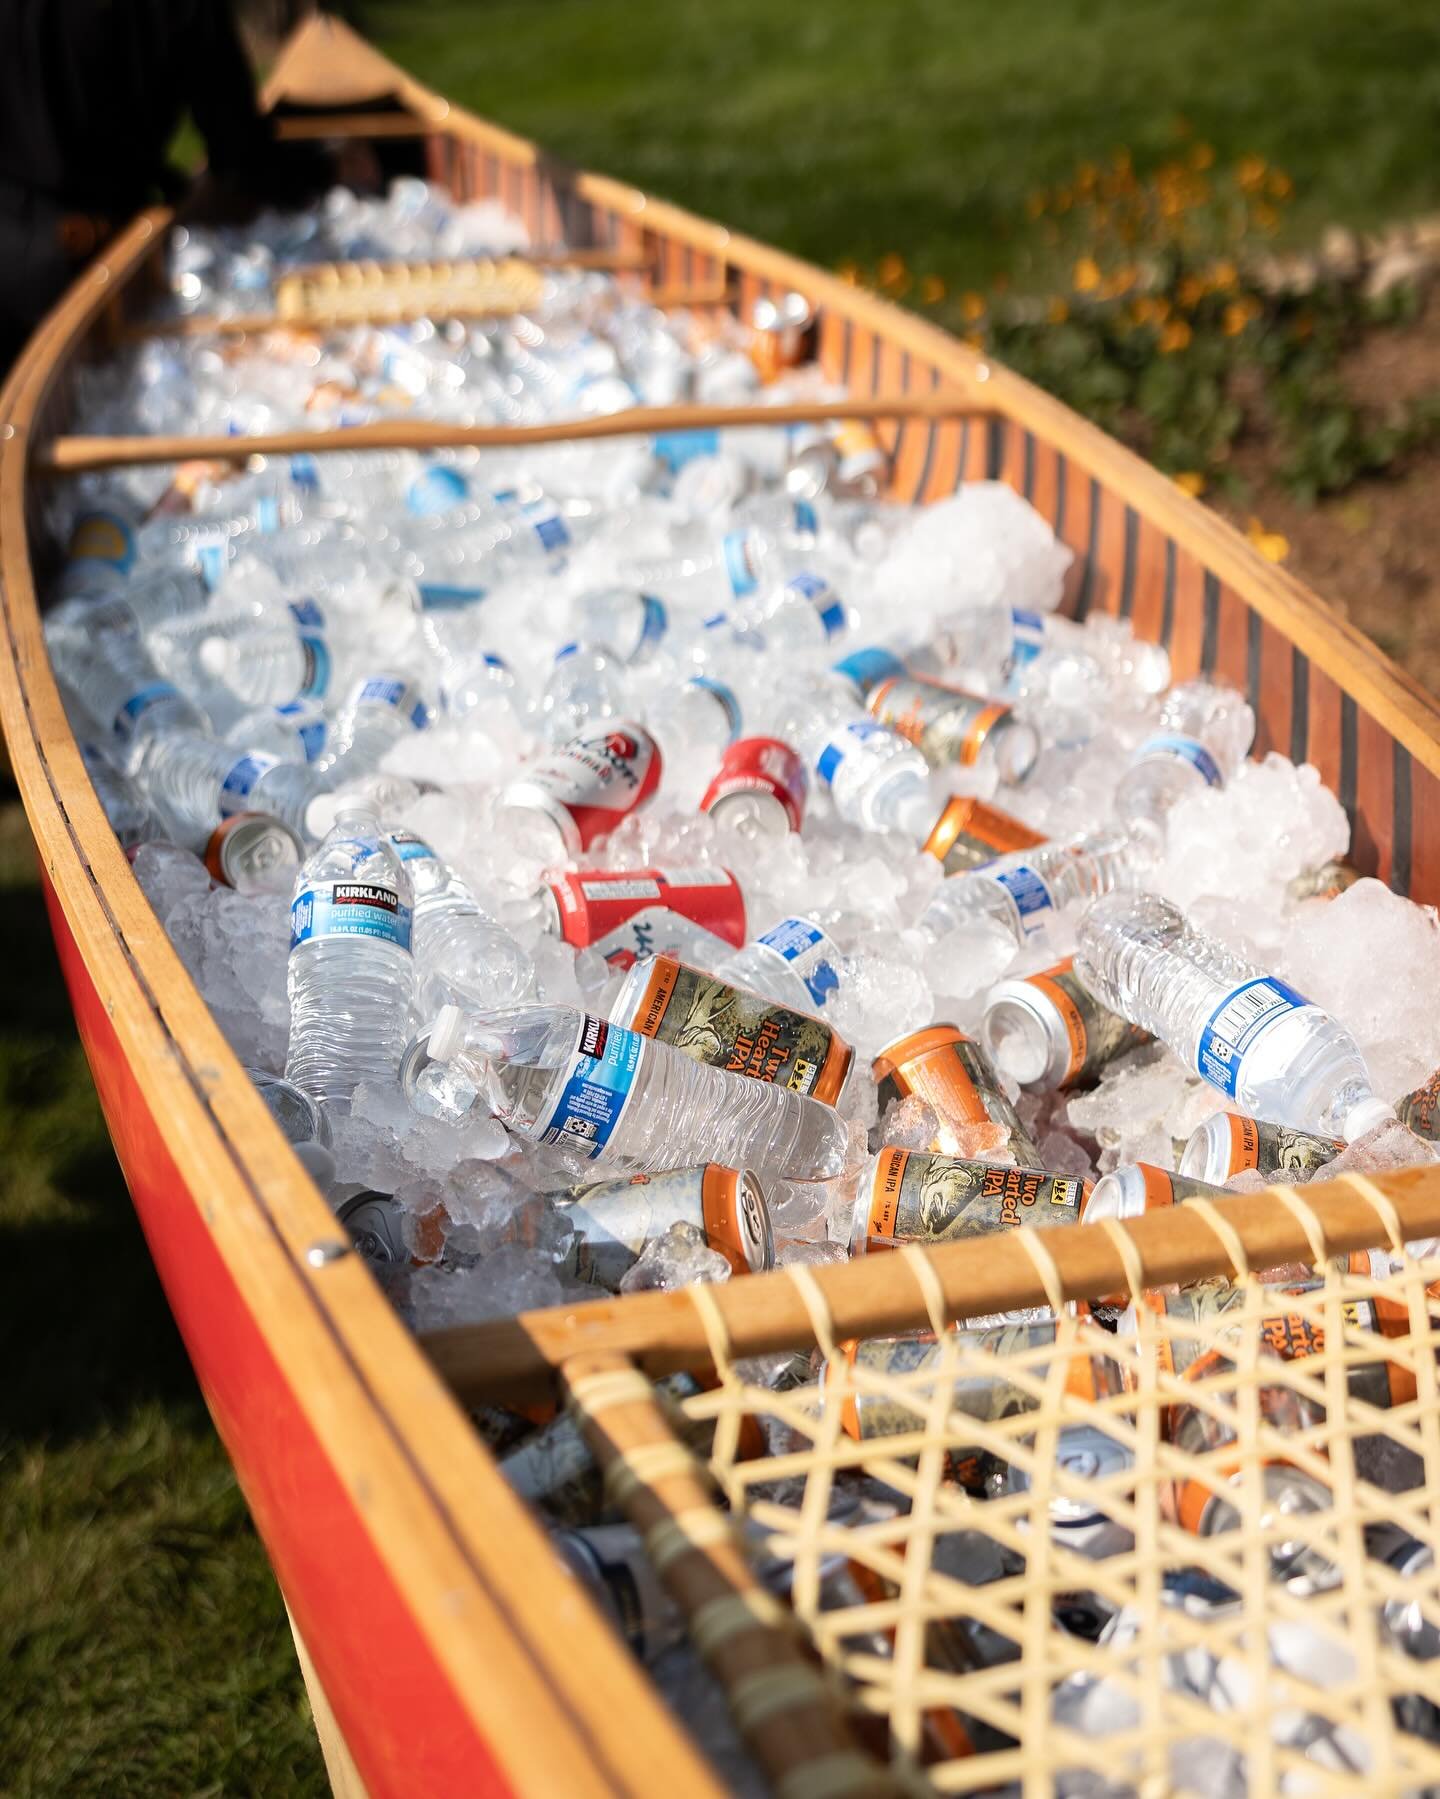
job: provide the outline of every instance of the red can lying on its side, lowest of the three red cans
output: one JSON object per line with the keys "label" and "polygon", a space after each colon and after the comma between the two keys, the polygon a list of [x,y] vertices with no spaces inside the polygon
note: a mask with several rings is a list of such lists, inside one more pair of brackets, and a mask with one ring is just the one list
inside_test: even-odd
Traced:
{"label": "red can lying on its side, lowest of the three red cans", "polygon": [[695,953],[711,937],[745,941],[745,894],[729,869],[578,869],[547,882],[540,905],[545,930],[612,968]]}

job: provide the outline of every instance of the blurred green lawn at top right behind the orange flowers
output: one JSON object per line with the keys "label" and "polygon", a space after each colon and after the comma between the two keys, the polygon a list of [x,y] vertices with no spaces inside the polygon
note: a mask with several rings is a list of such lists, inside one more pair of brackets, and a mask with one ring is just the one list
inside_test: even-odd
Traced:
{"label": "blurred green lawn at top right behind the orange flowers", "polygon": [[367,0],[450,99],[826,264],[1044,273],[1026,196],[1177,121],[1296,182],[1298,236],[1436,207],[1431,0]]}

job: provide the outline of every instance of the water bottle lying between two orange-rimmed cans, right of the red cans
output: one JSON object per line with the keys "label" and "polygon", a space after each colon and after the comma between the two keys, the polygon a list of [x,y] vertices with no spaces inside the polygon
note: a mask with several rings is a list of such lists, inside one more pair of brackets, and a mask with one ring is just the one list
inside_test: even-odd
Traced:
{"label": "water bottle lying between two orange-rimmed cans, right of the red cans", "polygon": [[1118,828],[1091,831],[1073,844],[1015,849],[941,882],[918,930],[932,943],[959,934],[967,950],[995,944],[1010,955],[1022,944],[1039,946],[1085,900],[1130,885],[1136,867],[1136,846]]}

